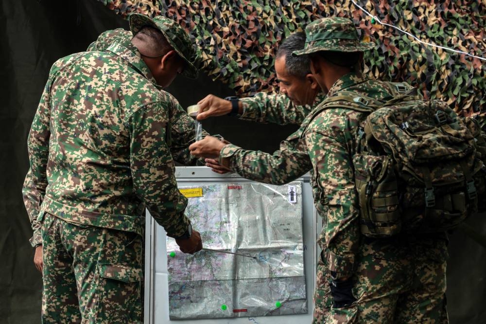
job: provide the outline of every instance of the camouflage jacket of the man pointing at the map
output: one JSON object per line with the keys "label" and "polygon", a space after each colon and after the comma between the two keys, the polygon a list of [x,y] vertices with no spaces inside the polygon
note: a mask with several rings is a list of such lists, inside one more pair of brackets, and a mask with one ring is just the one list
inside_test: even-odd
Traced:
{"label": "camouflage jacket of the man pointing at the map", "polygon": [[28,138],[32,245],[42,243],[44,211],[141,234],[146,206],[170,236],[183,234],[187,199],[168,143],[190,143],[194,132],[169,125],[178,108],[129,41],[54,63]]}

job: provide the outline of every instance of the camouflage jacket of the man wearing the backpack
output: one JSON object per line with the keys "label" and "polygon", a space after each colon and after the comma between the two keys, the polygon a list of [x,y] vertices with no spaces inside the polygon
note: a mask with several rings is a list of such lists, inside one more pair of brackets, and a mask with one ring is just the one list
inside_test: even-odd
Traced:
{"label": "camouflage jacket of the man wearing the backpack", "polygon": [[[377,100],[392,98],[386,83],[356,73],[338,79],[329,90],[328,98],[342,90]],[[352,158],[356,152],[358,128],[366,115],[349,108],[328,108],[314,117],[304,133],[312,161],[314,204],[319,214],[326,218],[319,243],[323,249],[329,249],[329,269],[338,277],[353,273],[360,241],[359,203]]]}

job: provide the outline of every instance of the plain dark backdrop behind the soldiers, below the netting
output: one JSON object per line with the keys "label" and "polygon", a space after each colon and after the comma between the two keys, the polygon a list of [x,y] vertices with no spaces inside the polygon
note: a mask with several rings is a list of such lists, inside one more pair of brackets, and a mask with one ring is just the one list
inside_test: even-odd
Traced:
{"label": "plain dark backdrop behind the soldiers, below the netting", "polygon": [[[58,58],[84,51],[99,34],[128,23],[87,0],[0,0],[0,323],[40,323],[41,275],[35,270],[32,236],[21,187],[29,168],[27,135],[49,69]],[[204,72],[178,77],[168,89],[182,107],[208,93],[234,95]],[[295,126],[260,125],[220,117],[203,122],[247,149],[273,152]],[[483,197],[483,199],[485,199]],[[486,234],[482,217],[470,220]],[[448,309],[451,323],[486,323],[486,250],[462,233],[451,235]]]}

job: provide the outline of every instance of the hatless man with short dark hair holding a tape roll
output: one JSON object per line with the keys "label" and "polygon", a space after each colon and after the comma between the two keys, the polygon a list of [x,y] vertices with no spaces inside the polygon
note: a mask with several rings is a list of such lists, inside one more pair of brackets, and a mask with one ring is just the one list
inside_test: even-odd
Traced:
{"label": "hatless man with short dark hair holding a tape roll", "polygon": [[[280,85],[280,93],[269,95],[264,92],[257,93],[253,97],[239,99],[238,116],[244,120],[260,123],[276,123],[279,125],[301,124],[306,116],[326,97],[324,91],[316,89],[315,80],[310,73],[309,60],[306,57],[293,57],[292,52],[304,48],[305,33],[296,32],[285,39],[278,47],[275,59],[275,70]],[[198,119],[210,116],[222,116],[231,114],[232,102],[208,95],[199,103]],[[235,114],[233,112],[233,114]],[[304,123],[303,126],[307,125]],[[232,170],[243,174],[252,180],[266,183],[280,184],[294,180],[310,170],[310,162],[307,152],[304,150],[302,140],[302,127],[289,136],[280,145],[280,150],[272,154],[263,152],[245,151],[236,145],[227,145],[225,149],[232,159],[239,159],[240,163],[234,163]],[[203,143],[203,142],[202,142]],[[224,146],[215,141],[214,144]],[[228,158],[229,159],[229,158]],[[213,159],[206,160],[207,166],[222,173],[219,164]],[[236,160],[234,160],[236,161]],[[262,179],[260,174],[253,170],[266,168],[271,175]],[[292,174],[289,172],[292,168]],[[317,264],[318,288],[314,293],[314,319],[320,323],[329,311],[332,303],[329,289],[329,271],[323,260]]]}

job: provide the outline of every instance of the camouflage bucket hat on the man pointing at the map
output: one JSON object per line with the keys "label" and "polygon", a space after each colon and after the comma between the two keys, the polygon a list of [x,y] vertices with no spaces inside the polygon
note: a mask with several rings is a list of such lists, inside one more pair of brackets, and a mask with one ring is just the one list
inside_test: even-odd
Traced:
{"label": "camouflage bucket hat on the man pointing at the map", "polygon": [[194,62],[197,59],[198,52],[193,47],[188,33],[174,20],[162,16],[151,19],[145,15],[134,13],[128,17],[128,21],[133,35],[137,34],[145,26],[154,27],[161,31],[174,48],[174,51],[186,62],[182,75],[191,79],[197,78],[198,73]]}

